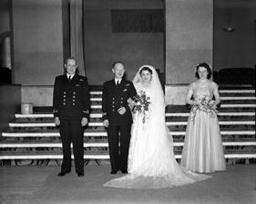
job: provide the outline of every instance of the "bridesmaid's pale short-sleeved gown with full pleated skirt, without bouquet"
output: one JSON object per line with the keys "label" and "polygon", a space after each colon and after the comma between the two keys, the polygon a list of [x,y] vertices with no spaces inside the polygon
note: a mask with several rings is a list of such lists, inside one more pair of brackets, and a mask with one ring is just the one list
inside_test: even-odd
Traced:
{"label": "bridesmaid's pale short-sleeved gown with full pleated skirt, without bouquet", "polygon": [[[213,92],[218,92],[218,85],[210,82],[205,86],[191,83],[189,89],[193,92],[195,101],[205,94],[210,98]],[[186,130],[185,142],[180,164],[193,172],[209,173],[215,170],[226,170],[223,146],[220,136],[220,125],[217,114],[197,111],[194,121],[192,112]]]}

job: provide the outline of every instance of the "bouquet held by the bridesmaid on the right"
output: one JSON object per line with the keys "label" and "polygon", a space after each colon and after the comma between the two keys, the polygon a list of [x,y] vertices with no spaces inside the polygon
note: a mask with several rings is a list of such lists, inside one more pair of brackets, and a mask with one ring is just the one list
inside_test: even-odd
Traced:
{"label": "bouquet held by the bridesmaid on the right", "polygon": [[214,117],[214,112],[217,113],[218,111],[216,106],[212,106],[213,102],[214,101],[211,100],[208,94],[203,95],[191,108],[191,121],[195,120],[195,116],[198,110],[202,112],[207,112],[210,114],[211,117]]}

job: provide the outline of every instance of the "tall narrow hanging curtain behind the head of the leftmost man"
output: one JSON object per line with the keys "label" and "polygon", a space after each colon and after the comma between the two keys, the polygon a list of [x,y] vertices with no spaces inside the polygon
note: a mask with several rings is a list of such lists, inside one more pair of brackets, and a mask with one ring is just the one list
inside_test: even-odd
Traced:
{"label": "tall narrow hanging curtain behind the head of the leftmost man", "polygon": [[76,57],[78,72],[86,75],[83,41],[83,0],[69,0],[71,56]]}

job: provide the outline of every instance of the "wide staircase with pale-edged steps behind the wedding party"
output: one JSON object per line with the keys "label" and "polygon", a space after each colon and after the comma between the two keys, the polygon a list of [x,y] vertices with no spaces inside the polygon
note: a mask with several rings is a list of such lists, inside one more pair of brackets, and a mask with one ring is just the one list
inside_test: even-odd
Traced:
{"label": "wide staircase with pale-edged steps behind the wedding party", "polygon": [[[107,132],[101,120],[100,90],[92,90],[90,120],[84,133],[85,164],[109,164]],[[227,163],[256,163],[254,90],[220,90],[219,121]],[[0,141],[0,166],[59,165],[62,148],[52,107],[34,107],[30,115],[15,114]],[[168,106],[166,123],[172,133],[174,153],[181,157],[189,108]]]}

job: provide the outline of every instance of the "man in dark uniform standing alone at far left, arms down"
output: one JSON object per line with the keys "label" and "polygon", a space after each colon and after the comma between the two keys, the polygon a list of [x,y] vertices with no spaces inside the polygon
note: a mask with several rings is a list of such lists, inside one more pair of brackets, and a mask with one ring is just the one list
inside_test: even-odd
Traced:
{"label": "man in dark uniform standing alone at far left, arms down", "polygon": [[57,76],[54,85],[54,118],[59,127],[63,148],[63,162],[57,176],[71,171],[71,149],[75,157],[78,177],[84,176],[84,129],[89,117],[89,88],[87,78],[76,73],[77,61],[67,58],[64,64],[67,73]]}

